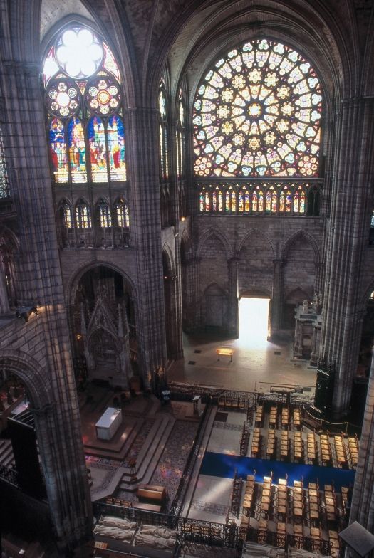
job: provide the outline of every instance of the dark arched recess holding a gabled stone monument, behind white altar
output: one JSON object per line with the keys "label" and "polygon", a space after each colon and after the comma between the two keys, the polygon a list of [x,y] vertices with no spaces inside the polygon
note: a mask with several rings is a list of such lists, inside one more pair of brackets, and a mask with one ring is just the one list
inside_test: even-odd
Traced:
{"label": "dark arched recess holding a gabled stone monument, behind white altar", "polygon": [[78,389],[87,381],[128,387],[137,372],[133,288],[118,270],[95,265],[76,278],[71,303]]}

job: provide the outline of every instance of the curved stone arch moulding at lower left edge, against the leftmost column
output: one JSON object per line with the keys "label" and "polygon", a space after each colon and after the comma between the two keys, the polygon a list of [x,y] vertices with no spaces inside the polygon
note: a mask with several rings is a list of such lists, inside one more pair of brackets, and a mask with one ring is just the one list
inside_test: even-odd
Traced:
{"label": "curved stone arch moulding at lower left edge, against the leftmost column", "polygon": [[52,404],[52,386],[48,374],[36,360],[23,351],[1,351],[0,369],[13,372],[25,385],[34,409]]}

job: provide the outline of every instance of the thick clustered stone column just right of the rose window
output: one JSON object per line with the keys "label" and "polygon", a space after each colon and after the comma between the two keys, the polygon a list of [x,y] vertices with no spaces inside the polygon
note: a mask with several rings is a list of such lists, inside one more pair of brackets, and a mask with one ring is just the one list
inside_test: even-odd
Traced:
{"label": "thick clustered stone column just right of the rose window", "polygon": [[346,100],[339,116],[321,334],[321,361],[336,372],[332,404],[336,418],[348,411],[358,364],[360,270],[368,246],[367,208],[374,171],[370,149],[374,143],[374,100]]}

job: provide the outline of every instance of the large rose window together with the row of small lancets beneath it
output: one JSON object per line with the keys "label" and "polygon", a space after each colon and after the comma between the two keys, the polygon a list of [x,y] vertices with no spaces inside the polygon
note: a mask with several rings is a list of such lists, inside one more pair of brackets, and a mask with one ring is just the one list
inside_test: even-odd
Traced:
{"label": "large rose window together with the row of small lancets beneath it", "polygon": [[[199,211],[318,215],[322,104],[315,70],[290,46],[254,39],[217,60],[192,112]],[[241,184],[222,181],[233,177]]]}

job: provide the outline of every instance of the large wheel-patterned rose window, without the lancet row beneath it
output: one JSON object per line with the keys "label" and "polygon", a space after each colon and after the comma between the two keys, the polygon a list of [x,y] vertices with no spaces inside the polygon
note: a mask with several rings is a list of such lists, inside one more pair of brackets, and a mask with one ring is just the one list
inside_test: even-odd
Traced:
{"label": "large wheel-patterned rose window, without the lancet row beneath it", "polygon": [[254,40],[221,58],[194,100],[200,177],[315,177],[321,85],[289,46]]}

